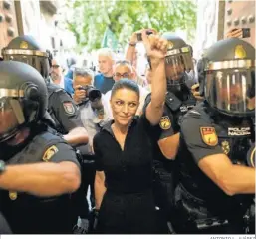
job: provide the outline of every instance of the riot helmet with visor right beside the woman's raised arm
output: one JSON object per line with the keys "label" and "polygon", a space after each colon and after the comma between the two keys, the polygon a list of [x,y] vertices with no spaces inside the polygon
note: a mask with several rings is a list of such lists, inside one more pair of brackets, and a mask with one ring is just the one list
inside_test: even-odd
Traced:
{"label": "riot helmet with visor right beside the woman's raised arm", "polygon": [[162,37],[168,41],[165,56],[168,90],[173,93],[188,91],[185,87],[185,81],[187,80],[187,73],[193,70],[191,47],[173,33],[166,32],[162,34]]}

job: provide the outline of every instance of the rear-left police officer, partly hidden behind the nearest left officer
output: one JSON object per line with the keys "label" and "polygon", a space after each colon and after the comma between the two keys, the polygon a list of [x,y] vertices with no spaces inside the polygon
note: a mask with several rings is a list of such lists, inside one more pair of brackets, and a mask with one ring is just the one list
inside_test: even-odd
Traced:
{"label": "rear-left police officer, partly hidden behind the nearest left officer", "polygon": [[2,50],[4,60],[25,62],[36,68],[47,82],[48,112],[58,132],[69,143],[77,145],[88,142],[88,136],[80,120],[79,111],[65,90],[49,81],[50,53],[45,51],[31,36],[14,38]]}

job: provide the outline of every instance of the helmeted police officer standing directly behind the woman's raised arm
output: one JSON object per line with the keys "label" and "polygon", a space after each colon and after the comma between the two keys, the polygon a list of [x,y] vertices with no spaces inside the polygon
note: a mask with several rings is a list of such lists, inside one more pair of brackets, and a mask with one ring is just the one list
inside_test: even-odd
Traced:
{"label": "helmeted police officer standing directly behind the woman's raised arm", "polygon": [[[174,159],[179,145],[180,122],[192,109],[196,100],[186,85],[187,73],[193,69],[191,48],[178,36],[164,33],[168,40],[168,51],[165,57],[167,93],[164,112],[159,123],[161,130],[158,142],[154,146],[155,196],[164,220],[171,220],[173,201],[173,168]],[[150,102],[150,95],[146,104]],[[168,227],[170,224],[168,223]],[[169,228],[172,231],[171,228]]]}

